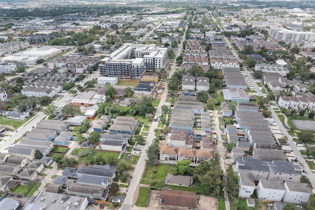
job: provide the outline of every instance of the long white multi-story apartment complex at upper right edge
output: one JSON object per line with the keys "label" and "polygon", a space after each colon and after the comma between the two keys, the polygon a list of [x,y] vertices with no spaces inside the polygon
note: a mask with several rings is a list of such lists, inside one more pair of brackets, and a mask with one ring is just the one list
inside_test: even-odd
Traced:
{"label": "long white multi-story apartment complex at upper right edge", "polygon": [[271,28],[269,35],[278,41],[293,40],[293,41],[315,41],[315,33],[310,31],[294,31],[287,29]]}

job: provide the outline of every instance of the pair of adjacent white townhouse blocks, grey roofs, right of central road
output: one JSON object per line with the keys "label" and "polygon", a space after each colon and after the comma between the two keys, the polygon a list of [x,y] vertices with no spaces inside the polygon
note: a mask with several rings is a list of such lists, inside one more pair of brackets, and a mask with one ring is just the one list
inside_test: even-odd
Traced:
{"label": "pair of adjacent white townhouse blocks, grey roofs, right of central road", "polygon": [[183,90],[196,90],[196,91],[208,91],[210,88],[208,77],[192,77],[188,74],[183,74],[182,89]]}

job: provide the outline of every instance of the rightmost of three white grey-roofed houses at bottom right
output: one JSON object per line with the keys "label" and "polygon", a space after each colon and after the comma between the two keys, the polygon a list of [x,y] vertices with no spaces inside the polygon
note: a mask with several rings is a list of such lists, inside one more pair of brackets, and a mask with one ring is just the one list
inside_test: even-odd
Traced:
{"label": "rightmost of three white grey-roofed houses at bottom right", "polygon": [[312,190],[308,183],[285,181],[284,187],[286,189],[284,193],[283,201],[286,203],[301,204],[308,202],[309,197],[312,194]]}

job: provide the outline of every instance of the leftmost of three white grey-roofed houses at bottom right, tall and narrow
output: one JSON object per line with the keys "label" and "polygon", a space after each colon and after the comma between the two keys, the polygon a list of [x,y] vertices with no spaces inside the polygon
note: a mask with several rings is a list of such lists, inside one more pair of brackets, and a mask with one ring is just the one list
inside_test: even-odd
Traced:
{"label": "leftmost of three white grey-roofed houses at bottom right, tall and narrow", "polygon": [[238,196],[242,198],[250,198],[255,189],[253,174],[251,172],[240,171],[238,176],[240,178]]}

